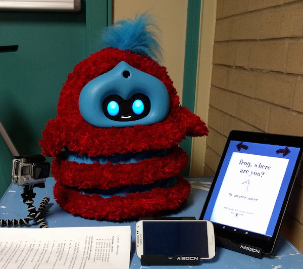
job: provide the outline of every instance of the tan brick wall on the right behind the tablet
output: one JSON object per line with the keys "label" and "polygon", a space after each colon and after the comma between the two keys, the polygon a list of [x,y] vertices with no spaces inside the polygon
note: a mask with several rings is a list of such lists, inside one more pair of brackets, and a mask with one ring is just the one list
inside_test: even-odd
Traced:
{"label": "tan brick wall on the right behind the tablet", "polygon": [[[303,136],[303,1],[217,0],[205,175],[232,129]],[[303,253],[303,175],[282,233]]]}

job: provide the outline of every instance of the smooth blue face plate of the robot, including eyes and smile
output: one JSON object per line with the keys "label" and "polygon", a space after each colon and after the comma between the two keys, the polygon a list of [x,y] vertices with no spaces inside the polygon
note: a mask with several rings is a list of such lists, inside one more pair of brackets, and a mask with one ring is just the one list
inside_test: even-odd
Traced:
{"label": "smooth blue face plate of the robot, including eyes and smile", "polygon": [[95,127],[148,125],[166,118],[169,95],[160,79],[122,61],[83,87],[79,110]]}

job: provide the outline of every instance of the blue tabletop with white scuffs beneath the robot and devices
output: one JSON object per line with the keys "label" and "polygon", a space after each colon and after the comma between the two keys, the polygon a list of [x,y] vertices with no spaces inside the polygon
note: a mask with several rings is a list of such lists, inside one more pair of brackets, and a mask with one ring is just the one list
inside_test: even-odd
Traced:
{"label": "blue tabletop with white scuffs beneath the robot and devices", "polygon": [[[187,201],[179,210],[174,211],[167,216],[194,216],[198,219],[203,205],[206,200],[208,190],[211,186],[212,177],[188,177],[187,180],[191,183],[191,193]],[[34,205],[37,207],[44,196],[49,196],[45,219],[47,225],[53,227],[94,227],[94,226],[131,226],[132,241],[131,241],[131,260],[130,268],[185,268],[192,266],[141,266],[140,259],[135,253],[135,223],[136,221],[111,222],[84,219],[79,216],[73,216],[65,212],[54,200],[53,186],[54,178],[47,178],[45,189],[35,188]],[[0,200],[1,218],[13,219],[24,218],[28,214],[27,206],[21,198],[23,190],[21,187],[12,184],[5,195]],[[32,222],[30,222],[32,223]],[[33,223],[31,228],[38,228],[36,223]],[[2,228],[14,229],[14,228]],[[29,229],[24,227],[23,229]],[[270,257],[258,259],[244,254],[240,254],[228,249],[216,248],[216,256],[211,260],[205,260],[195,267],[217,268],[217,269],[244,269],[244,268],[272,268],[272,269],[299,269],[303,268],[303,255],[283,236],[279,236],[276,247]]]}

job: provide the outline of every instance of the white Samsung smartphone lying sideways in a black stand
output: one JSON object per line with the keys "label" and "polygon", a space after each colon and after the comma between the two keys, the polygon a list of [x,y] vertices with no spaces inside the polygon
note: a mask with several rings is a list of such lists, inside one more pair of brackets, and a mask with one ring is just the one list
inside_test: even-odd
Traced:
{"label": "white Samsung smartphone lying sideways in a black stand", "polygon": [[208,220],[139,220],[136,223],[136,252],[142,255],[215,256],[214,226]]}

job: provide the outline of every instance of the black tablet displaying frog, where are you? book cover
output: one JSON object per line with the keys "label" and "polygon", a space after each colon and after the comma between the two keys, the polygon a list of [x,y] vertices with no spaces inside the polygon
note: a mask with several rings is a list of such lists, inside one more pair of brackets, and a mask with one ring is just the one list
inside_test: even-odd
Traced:
{"label": "black tablet displaying frog, where are you? book cover", "polygon": [[231,131],[200,219],[218,238],[271,253],[302,149],[302,137]]}

